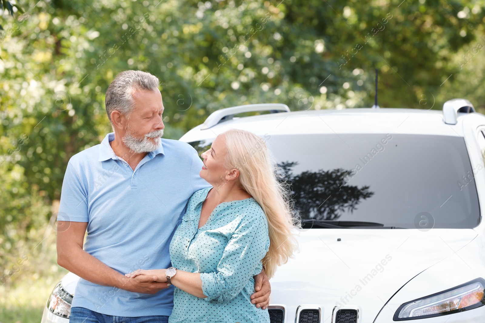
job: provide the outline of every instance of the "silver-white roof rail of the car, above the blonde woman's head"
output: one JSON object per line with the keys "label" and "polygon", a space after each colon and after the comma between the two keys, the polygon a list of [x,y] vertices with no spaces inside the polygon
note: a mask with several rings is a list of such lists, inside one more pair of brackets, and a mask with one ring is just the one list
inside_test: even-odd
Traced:
{"label": "silver-white roof rail of the car, above the blonde woman's head", "polygon": [[255,111],[270,111],[271,113],[277,112],[290,112],[290,108],[286,104],[281,103],[259,103],[248,104],[245,106],[237,106],[231,108],[224,108],[214,111],[207,117],[201,130],[209,129],[218,123],[222,123],[234,118],[237,113],[243,112],[255,112]]}

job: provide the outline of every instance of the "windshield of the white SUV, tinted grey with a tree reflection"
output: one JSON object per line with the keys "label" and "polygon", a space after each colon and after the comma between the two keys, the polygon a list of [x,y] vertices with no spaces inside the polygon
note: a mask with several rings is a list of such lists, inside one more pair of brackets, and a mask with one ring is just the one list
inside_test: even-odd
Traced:
{"label": "windshield of the white SUV, tinted grey with a tree reflection", "polygon": [[[267,143],[307,227],[426,230],[480,222],[464,138],[312,134],[274,135]],[[191,144],[199,154],[210,147],[207,140]]]}

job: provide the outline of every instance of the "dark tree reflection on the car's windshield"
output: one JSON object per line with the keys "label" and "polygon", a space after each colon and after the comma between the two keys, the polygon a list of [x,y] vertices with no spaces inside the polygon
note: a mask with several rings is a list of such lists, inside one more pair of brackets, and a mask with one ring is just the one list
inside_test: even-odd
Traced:
{"label": "dark tree reflection on the car's windshield", "polygon": [[294,175],[291,169],[297,162],[278,164],[282,180],[289,185],[294,207],[302,219],[336,220],[341,212],[353,212],[361,200],[370,198],[374,192],[370,186],[345,185],[352,170],[320,169],[316,172],[304,171]]}

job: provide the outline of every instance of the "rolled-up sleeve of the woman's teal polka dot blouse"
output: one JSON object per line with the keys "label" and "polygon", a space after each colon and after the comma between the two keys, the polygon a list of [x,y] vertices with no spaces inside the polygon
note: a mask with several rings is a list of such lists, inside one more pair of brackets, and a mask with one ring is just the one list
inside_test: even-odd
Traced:
{"label": "rolled-up sleeve of the woman's teal polka dot blouse", "polygon": [[229,239],[217,272],[202,273],[202,292],[206,301],[227,302],[236,297],[254,275],[261,271],[261,260],[269,248],[264,213],[247,216]]}

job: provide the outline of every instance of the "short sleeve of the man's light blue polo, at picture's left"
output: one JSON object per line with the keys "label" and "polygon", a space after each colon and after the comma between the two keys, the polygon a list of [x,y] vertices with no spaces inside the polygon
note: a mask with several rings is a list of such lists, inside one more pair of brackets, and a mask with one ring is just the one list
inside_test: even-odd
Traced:
{"label": "short sleeve of the man's light blue polo, at picture's left", "polygon": [[67,163],[57,215],[58,221],[88,222],[87,191],[78,171],[71,161]]}

